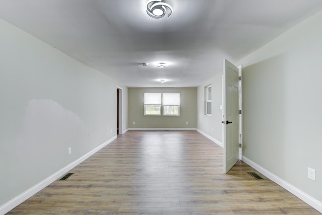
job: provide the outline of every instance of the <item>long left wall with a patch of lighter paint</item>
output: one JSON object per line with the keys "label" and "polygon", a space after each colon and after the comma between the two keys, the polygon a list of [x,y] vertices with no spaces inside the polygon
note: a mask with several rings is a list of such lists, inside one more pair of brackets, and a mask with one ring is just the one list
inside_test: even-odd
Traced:
{"label": "long left wall with a patch of lighter paint", "polygon": [[2,20],[0,35],[2,205],[116,135],[116,85],[127,128],[127,88]]}

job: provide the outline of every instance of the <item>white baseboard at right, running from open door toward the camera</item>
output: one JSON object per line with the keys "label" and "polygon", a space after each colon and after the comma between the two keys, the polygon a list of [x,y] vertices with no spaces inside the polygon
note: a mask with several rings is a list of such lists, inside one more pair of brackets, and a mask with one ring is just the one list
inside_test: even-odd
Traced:
{"label": "white baseboard at right, running from open door toward the camera", "polygon": [[251,161],[250,159],[243,156],[243,161],[259,171],[261,174],[265,175],[270,180],[274,181],[290,193],[294,194],[298,198],[302,199],[304,202],[306,202],[308,205],[312,206],[316,210],[322,213],[322,202],[316,200],[312,196],[304,193],[303,191],[299,190],[298,188],[294,187],[293,185],[289,184],[288,182],[284,181],[283,179],[279,178],[278,176],[274,175],[270,171],[264,169],[260,165],[256,164],[255,162]]}

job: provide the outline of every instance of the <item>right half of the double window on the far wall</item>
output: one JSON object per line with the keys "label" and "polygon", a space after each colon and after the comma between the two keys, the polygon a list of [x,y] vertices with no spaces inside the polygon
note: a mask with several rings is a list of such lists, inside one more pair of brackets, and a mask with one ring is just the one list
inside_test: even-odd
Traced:
{"label": "right half of the double window on the far wall", "polygon": [[180,93],[162,94],[162,107],[164,116],[180,115]]}

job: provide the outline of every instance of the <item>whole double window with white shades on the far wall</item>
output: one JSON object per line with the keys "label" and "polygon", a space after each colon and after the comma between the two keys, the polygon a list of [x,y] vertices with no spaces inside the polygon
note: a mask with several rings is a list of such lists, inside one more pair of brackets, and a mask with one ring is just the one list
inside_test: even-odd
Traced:
{"label": "whole double window with white shades on the far wall", "polygon": [[179,116],[180,93],[144,93],[144,115]]}

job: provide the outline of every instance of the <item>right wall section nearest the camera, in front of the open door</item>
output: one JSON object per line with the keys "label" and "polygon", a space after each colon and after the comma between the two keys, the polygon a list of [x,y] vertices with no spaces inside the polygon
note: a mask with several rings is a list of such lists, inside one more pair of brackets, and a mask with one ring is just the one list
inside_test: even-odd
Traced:
{"label": "right wall section nearest the camera, in front of the open door", "polygon": [[[322,201],[322,12],[239,63],[244,156]],[[307,168],[316,170],[316,182]]]}

